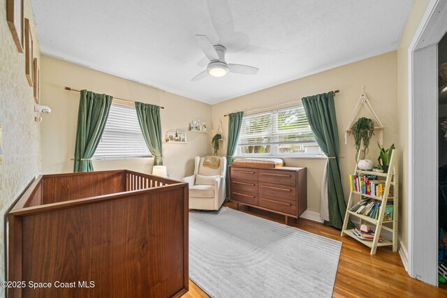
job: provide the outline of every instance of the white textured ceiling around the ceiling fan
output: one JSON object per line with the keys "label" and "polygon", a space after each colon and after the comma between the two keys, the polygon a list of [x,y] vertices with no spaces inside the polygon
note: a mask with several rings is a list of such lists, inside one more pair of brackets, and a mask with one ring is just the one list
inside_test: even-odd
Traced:
{"label": "white textured ceiling around the ceiling fan", "polygon": [[[33,0],[41,51],[217,103],[395,50],[411,0]],[[257,75],[205,70],[196,34]],[[203,61],[202,61],[203,63]],[[73,86],[82,88],[82,86]]]}

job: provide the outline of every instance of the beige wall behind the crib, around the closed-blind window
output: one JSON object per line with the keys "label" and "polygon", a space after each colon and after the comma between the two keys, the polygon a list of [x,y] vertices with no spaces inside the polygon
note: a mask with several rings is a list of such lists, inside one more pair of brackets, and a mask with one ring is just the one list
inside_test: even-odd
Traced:
{"label": "beige wall behind the crib, around the closed-blind window", "polygon": [[[189,129],[191,119],[211,124],[211,106],[196,100],[124,80],[90,68],[42,55],[42,103],[51,107],[51,114],[42,122],[42,171],[47,173],[73,172],[75,134],[80,94],[64,87],[89,89],[143,103],[165,107],[161,110],[161,128]],[[163,163],[173,179],[193,173],[194,156],[211,153],[210,133],[187,132],[188,144],[163,143]],[[94,161],[95,170],[129,169],[151,173],[154,158],[135,158],[115,161]]]}

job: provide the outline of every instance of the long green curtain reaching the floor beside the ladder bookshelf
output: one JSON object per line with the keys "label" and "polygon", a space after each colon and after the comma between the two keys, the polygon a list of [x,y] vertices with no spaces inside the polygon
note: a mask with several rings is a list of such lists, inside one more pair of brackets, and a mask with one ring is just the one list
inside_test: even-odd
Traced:
{"label": "long green curtain reaching the floor beside the ladder bookshelf", "polygon": [[[339,167],[339,140],[337,116],[335,114],[334,93],[330,91],[302,98],[307,120],[314,133],[318,146],[328,160],[328,209],[329,221],[325,225],[341,229],[346,213],[346,202],[342,187],[342,178]],[[351,223],[349,227],[352,228]]]}

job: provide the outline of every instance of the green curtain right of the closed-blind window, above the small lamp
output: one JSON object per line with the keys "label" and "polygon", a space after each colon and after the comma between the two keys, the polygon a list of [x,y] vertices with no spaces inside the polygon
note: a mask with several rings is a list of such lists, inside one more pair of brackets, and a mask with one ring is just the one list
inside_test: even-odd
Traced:
{"label": "green curtain right of the closed-blind window, above the small lamp", "polygon": [[160,107],[148,103],[138,103],[137,101],[135,102],[135,110],[137,110],[142,136],[145,137],[147,148],[155,158],[154,165],[163,165]]}

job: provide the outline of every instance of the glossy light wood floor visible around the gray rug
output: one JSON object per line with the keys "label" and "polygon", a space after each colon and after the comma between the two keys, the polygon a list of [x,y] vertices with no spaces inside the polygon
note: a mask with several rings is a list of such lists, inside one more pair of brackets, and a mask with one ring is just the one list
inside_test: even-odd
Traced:
{"label": "glossy light wood floor visible around the gray rug", "polygon": [[[235,208],[233,203],[226,206]],[[240,211],[284,223],[284,216],[267,211],[242,206]],[[369,255],[367,246],[351,237],[340,237],[337,229],[302,218],[296,222],[289,221],[289,225],[343,242],[333,297],[447,297],[447,289],[435,288],[410,278],[399,253],[393,253],[391,248],[379,247],[376,255]],[[183,297],[209,296],[189,281],[189,292]]]}

